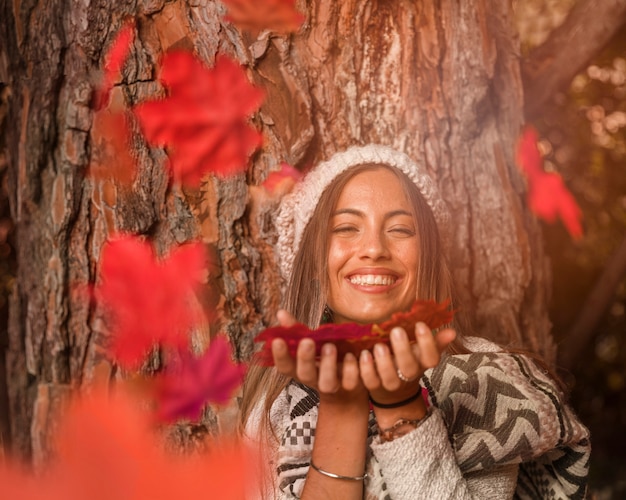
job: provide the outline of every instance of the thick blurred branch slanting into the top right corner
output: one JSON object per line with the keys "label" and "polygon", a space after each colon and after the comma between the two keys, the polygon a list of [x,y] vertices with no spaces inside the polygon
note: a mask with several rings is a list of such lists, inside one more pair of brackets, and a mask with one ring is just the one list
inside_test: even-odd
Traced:
{"label": "thick blurred branch slanting into the top right corner", "polygon": [[526,119],[535,120],[626,23],[626,0],[582,0],[522,65]]}

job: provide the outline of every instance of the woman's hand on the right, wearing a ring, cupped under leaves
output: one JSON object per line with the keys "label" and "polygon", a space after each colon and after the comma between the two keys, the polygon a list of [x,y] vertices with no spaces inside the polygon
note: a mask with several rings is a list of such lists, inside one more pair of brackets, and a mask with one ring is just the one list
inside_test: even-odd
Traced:
{"label": "woman's hand on the right, wearing a ring, cupped under leaves", "polygon": [[[400,327],[391,331],[391,350],[384,344],[374,346],[374,354],[363,351],[359,358],[361,379],[372,399],[378,403],[397,403],[419,391],[419,380],[424,372],[437,366],[441,353],[456,337],[446,329],[433,335],[424,323],[415,325],[415,339],[410,343]],[[398,376],[398,370],[409,380]]]}

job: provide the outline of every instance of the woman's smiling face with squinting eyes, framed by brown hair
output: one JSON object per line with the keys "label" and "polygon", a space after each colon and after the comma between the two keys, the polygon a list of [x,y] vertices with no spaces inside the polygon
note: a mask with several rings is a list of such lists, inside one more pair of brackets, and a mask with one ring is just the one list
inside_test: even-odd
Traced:
{"label": "woman's smiling face with squinting eyes, framed by brown hair", "polygon": [[344,186],[329,221],[327,302],[335,323],[375,323],[417,297],[419,235],[411,203],[386,168]]}

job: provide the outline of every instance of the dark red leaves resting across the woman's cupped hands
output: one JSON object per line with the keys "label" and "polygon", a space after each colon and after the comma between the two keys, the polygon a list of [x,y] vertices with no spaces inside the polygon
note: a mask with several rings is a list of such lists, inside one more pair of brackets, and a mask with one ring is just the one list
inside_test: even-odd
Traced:
{"label": "dark red leaves resting across the woman's cupped hands", "polygon": [[304,338],[315,341],[316,356],[320,355],[322,345],[327,342],[336,345],[339,359],[343,359],[348,352],[358,356],[363,349],[372,349],[375,344],[389,344],[389,333],[396,326],[404,328],[411,338],[415,323],[419,321],[426,323],[431,329],[449,323],[454,314],[449,310],[449,305],[450,301],[437,303],[434,300],[416,300],[409,311],[393,314],[390,320],[380,325],[325,324],[315,330],[301,323],[290,327],[270,327],[254,339],[255,342],[265,342],[257,356],[262,365],[273,365],[271,344],[276,338],[285,340],[292,356],[295,356],[298,344]]}

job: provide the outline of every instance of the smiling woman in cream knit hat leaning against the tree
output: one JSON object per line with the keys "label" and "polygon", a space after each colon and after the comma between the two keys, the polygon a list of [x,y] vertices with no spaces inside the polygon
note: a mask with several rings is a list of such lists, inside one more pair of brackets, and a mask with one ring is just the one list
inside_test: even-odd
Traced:
{"label": "smiling woman in cream knit hat leaning against the tree", "polygon": [[[406,155],[377,145],[335,155],[282,204],[295,316],[279,321],[380,323],[416,298],[453,298],[438,227],[449,228],[445,204]],[[274,340],[275,368],[250,370],[242,404],[266,453],[263,495],[583,498],[588,433],[554,382],[528,357],[455,329],[396,328],[390,348],[358,359],[326,344],[316,361],[310,339],[292,358]]]}

